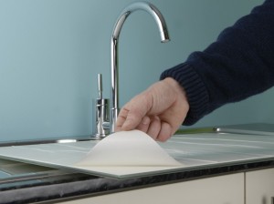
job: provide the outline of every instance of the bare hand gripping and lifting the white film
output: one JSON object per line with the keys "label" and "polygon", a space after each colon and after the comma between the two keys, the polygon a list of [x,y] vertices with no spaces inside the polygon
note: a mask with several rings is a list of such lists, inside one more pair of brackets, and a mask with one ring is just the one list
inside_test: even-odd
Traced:
{"label": "bare hand gripping and lifting the white film", "polygon": [[181,126],[188,110],[184,88],[167,77],[121,108],[115,130],[136,128],[155,140],[165,141]]}

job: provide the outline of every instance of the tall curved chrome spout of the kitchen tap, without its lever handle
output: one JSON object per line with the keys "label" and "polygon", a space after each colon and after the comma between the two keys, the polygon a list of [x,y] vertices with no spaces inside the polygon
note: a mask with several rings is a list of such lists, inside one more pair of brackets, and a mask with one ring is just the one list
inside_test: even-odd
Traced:
{"label": "tall curved chrome spout of the kitchen tap, without its lever handle", "polygon": [[124,21],[127,19],[132,12],[136,10],[144,10],[153,16],[158,29],[160,31],[161,42],[165,43],[169,41],[167,26],[165,24],[163,15],[161,12],[152,4],[147,2],[136,2],[132,5],[127,6],[118,17],[118,20],[113,28],[111,36],[111,132],[114,132],[116,120],[119,113],[119,69],[118,69],[118,42],[121,32],[121,27]]}

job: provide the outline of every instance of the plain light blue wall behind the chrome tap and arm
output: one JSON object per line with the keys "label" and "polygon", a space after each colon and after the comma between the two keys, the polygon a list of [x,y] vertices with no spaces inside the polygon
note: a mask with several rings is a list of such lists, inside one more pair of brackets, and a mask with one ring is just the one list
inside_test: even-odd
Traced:
{"label": "plain light blue wall behind the chrome tap and arm", "polygon": [[[110,38],[132,0],[0,0],[0,140],[90,135],[97,73],[110,93]],[[121,104],[158,80],[262,0],[152,0],[172,41],[150,15],[121,31]],[[274,121],[274,91],[219,108],[196,126]]]}

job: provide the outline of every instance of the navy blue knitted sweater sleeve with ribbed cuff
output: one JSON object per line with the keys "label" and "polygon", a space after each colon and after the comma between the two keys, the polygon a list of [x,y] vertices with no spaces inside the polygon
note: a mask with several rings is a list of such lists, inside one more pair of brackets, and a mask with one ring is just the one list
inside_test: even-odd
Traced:
{"label": "navy blue knitted sweater sleeve with ribbed cuff", "polygon": [[186,91],[192,125],[217,107],[274,86],[274,0],[255,7],[203,52],[163,72]]}

